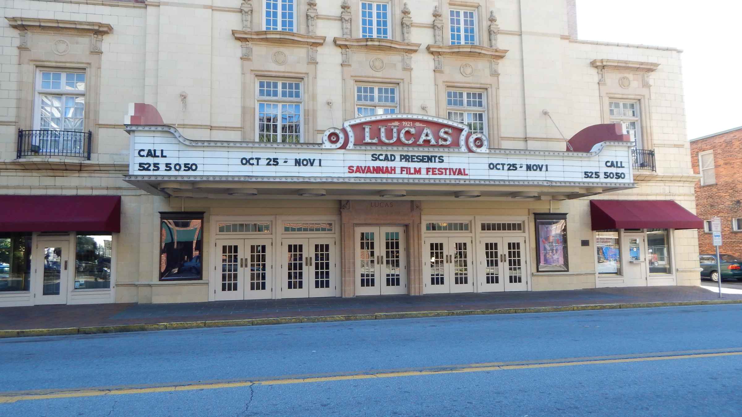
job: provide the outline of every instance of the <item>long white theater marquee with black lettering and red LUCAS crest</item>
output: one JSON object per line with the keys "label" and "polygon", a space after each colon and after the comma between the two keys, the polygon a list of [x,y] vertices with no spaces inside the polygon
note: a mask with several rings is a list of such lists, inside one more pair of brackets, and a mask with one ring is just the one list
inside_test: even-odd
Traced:
{"label": "long white theater marquee with black lettering and red LUCAS crest", "polygon": [[379,115],[330,128],[321,143],[185,139],[167,125],[128,125],[129,180],[634,186],[631,142],[591,152],[489,149],[466,125]]}

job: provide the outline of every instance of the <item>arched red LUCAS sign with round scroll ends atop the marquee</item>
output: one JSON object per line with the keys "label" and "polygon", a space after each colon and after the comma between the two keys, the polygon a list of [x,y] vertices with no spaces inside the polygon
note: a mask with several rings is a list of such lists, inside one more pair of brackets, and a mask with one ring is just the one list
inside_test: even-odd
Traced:
{"label": "arched red LUCAS sign with round scroll ends atop the marquee", "polygon": [[453,120],[424,114],[378,114],[347,120],[342,129],[327,129],[322,145],[331,149],[418,147],[487,152],[488,140]]}

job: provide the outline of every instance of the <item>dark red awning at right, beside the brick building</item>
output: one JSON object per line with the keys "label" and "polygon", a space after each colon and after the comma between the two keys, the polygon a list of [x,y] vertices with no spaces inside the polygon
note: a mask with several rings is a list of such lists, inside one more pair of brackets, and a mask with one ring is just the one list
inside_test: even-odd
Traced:
{"label": "dark red awning at right, beside the brick building", "polygon": [[593,230],[703,229],[703,220],[672,200],[591,200]]}

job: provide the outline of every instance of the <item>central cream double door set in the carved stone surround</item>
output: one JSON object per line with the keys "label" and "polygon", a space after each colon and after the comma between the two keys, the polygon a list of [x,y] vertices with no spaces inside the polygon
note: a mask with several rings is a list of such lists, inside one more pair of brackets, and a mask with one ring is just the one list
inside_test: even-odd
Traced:
{"label": "central cream double door set in the carved stone surround", "polygon": [[355,228],[355,295],[407,294],[404,226]]}

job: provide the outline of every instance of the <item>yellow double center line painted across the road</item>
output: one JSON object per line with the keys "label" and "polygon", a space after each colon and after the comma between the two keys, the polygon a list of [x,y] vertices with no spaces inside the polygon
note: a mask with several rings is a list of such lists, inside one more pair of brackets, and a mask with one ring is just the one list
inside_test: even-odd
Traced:
{"label": "yellow double center line painted across the road", "polygon": [[[723,351],[720,351],[723,350]],[[306,384],[326,381],[348,381],[352,379],[398,378],[404,376],[441,375],[463,372],[489,372],[502,370],[528,370],[537,368],[574,367],[577,365],[626,364],[643,361],[670,361],[677,359],[715,358],[720,356],[742,355],[742,348],[657,352],[626,357],[622,355],[598,356],[588,358],[548,359],[542,361],[489,362],[482,364],[453,365],[449,367],[427,367],[404,370],[385,370],[382,372],[359,372],[338,375],[306,375],[301,378],[266,378],[252,381],[214,381],[209,383],[183,383],[156,387],[102,387],[79,390],[35,390],[0,392],[0,403],[16,401],[47,400],[53,398],[95,397],[99,395],[125,395],[146,393],[167,393],[173,391],[219,390],[222,388],[249,387],[254,385]]]}

